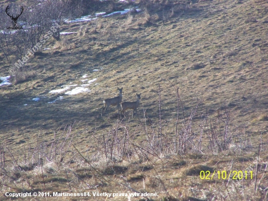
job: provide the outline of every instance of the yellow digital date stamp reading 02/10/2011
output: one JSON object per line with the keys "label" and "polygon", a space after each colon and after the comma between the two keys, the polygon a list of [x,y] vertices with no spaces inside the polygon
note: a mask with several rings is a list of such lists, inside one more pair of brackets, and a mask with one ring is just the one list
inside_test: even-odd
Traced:
{"label": "yellow digital date stamp reading 02/10/2011", "polygon": [[232,179],[232,180],[242,180],[242,179],[245,179],[245,180],[252,180],[253,179],[253,173],[252,171],[236,171],[236,170],[233,170],[233,171],[217,171],[214,170],[214,172],[212,173],[211,171],[200,171],[200,179],[201,180],[212,180],[213,177],[216,175],[218,175],[218,180],[229,180],[229,179]]}

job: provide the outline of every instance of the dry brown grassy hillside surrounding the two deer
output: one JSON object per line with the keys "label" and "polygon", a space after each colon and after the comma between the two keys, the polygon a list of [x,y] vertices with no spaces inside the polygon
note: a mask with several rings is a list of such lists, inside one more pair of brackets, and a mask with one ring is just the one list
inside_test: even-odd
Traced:
{"label": "dry brown grassy hillside surrounding the two deer", "polygon": [[[0,87],[3,194],[90,192],[91,197],[63,199],[99,201],[106,197],[93,192],[159,195],[107,199],[116,201],[268,199],[267,1],[177,0],[172,7],[149,2],[136,3],[141,12],[63,24],[61,31],[77,34],[47,41],[44,48],[50,49],[28,61],[19,81]],[[0,52],[1,77],[12,65]],[[85,86],[89,92],[65,95],[76,87],[71,86],[49,93],[86,84],[85,79],[96,79]],[[101,117],[103,100],[117,96],[117,87],[123,87],[123,101],[135,101],[141,93],[134,118],[129,110],[120,119],[115,106]],[[59,96],[63,99],[48,103]],[[36,97],[40,101],[32,101]],[[176,122],[179,135],[190,131],[192,141],[173,151]],[[221,150],[217,142],[212,147],[213,132],[220,141],[227,125],[228,147]],[[199,175],[246,169],[252,180]]]}

